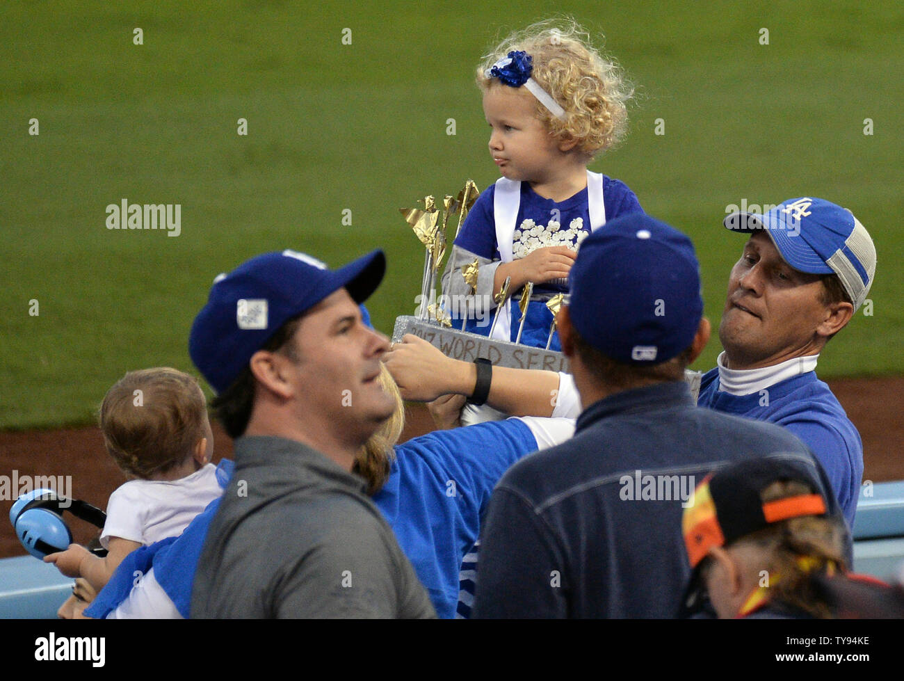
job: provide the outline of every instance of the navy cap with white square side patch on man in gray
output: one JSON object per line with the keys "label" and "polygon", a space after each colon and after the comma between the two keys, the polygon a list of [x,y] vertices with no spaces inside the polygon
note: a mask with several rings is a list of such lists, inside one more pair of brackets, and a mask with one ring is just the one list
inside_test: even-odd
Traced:
{"label": "navy cap with white square side patch on man in gray", "polygon": [[188,352],[217,393],[225,391],[288,319],[345,288],[366,300],[386,271],[383,251],[373,251],[339,270],[306,253],[273,251],[246,260],[213,280],[207,304],[194,317]]}

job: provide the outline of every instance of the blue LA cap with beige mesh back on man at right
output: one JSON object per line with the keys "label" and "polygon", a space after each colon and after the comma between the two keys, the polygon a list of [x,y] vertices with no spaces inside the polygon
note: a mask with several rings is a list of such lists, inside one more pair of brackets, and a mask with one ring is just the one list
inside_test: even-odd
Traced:
{"label": "blue LA cap with beige mesh back on man at right", "polygon": [[765,230],[782,258],[801,272],[837,274],[854,312],[866,299],[876,274],[876,248],[851,211],[825,199],[788,199],[767,213],[732,213],[725,226],[735,232]]}

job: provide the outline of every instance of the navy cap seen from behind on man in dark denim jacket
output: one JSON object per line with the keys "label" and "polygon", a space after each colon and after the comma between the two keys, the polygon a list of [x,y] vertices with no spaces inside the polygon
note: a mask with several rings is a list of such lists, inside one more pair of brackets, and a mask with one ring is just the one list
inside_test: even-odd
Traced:
{"label": "navy cap seen from behind on man in dark denim jacket", "polygon": [[625,364],[660,364],[681,354],[703,315],[691,240],[645,213],[618,217],[585,239],[569,287],[580,336]]}

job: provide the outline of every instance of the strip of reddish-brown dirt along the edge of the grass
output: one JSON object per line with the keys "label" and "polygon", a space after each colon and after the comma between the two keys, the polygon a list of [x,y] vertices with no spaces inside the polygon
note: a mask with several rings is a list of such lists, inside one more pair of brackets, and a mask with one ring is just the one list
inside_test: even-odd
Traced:
{"label": "strip of reddish-brown dirt along the edge of the grass", "polygon": [[[864,475],[873,482],[904,479],[904,376],[840,379],[828,382],[863,440]],[[402,440],[432,430],[421,405],[410,404]],[[232,456],[232,442],[214,425],[214,460]],[[0,432],[0,475],[71,476],[71,493],[104,508],[110,493],[125,477],[103,449],[96,427]],[[0,501],[0,558],[22,555],[24,549],[5,519],[13,502]],[[70,523],[74,539],[87,542],[95,534],[79,520]]]}

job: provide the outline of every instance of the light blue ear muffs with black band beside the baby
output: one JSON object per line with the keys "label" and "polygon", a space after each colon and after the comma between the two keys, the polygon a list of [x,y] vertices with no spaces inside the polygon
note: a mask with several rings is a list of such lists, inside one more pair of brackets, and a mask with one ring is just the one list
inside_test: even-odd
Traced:
{"label": "light blue ear muffs with black band beside the baby", "polygon": [[69,525],[62,519],[63,511],[101,528],[107,522],[107,514],[97,506],[61,497],[54,490],[45,488],[25,493],[9,509],[9,521],[15,535],[25,550],[38,560],[43,560],[48,553],[65,551],[72,543]]}

